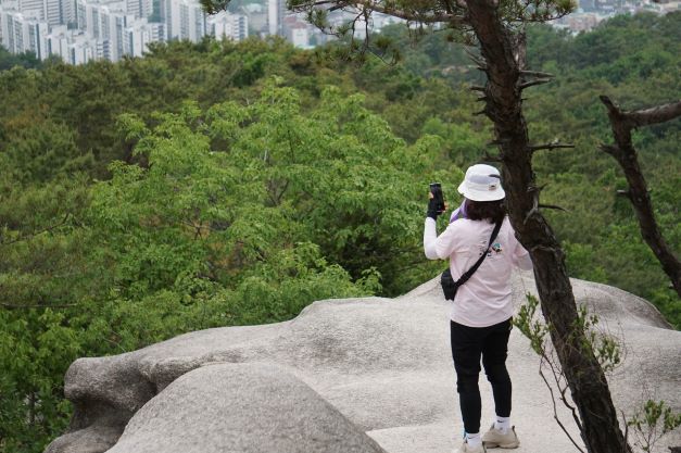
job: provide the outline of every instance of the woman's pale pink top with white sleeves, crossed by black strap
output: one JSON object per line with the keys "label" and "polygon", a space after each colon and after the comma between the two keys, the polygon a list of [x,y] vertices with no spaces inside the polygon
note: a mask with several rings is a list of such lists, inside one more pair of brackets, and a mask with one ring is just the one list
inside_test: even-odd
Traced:
{"label": "woman's pale pink top with white sleeves, crossed by black strap", "polygon": [[[478,261],[490,241],[494,225],[487,221],[462,218],[438,236],[436,221],[426,218],[424,251],[430,260],[450,259],[452,277],[457,280]],[[513,315],[510,270],[529,270],[530,255],[518,242],[508,217],[492,242],[488,256],[470,279],[458,288],[452,303],[451,318],[469,327],[487,327]]]}

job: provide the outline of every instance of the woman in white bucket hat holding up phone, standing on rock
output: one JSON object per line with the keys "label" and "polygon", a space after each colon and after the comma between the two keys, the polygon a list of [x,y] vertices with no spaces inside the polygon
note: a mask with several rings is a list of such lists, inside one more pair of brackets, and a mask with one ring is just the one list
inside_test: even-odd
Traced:
{"label": "woman in white bucket hat holding up phone, standing on rock", "polygon": [[[458,192],[465,197],[463,209],[446,230],[438,236],[436,203],[428,204],[424,231],[424,250],[430,260],[450,259],[452,277],[458,279],[487,253],[480,267],[458,288],[452,304],[452,356],[456,369],[456,390],[466,431],[459,452],[480,453],[487,448],[515,449],[520,442],[510,426],[510,377],[506,370],[506,352],[510,335],[513,302],[510,270],[513,266],[531,269],[528,252],[520,246],[504,206],[500,174],[490,165],[474,165],[466,171]],[[462,211],[465,215],[462,215]],[[501,223],[490,243],[495,224]],[[480,357],[492,385],[496,420],[480,436]]]}

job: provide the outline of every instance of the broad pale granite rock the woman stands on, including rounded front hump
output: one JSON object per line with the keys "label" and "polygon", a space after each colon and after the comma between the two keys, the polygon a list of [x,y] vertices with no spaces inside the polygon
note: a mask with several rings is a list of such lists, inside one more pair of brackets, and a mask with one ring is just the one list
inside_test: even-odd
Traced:
{"label": "broad pale granite rock the woman stands on, including rounded front hump", "polygon": [[[631,416],[648,398],[680,411],[681,332],[640,298],[572,285],[578,301],[625,344],[623,364],[610,378],[618,411]],[[533,289],[531,274],[516,275],[514,302]],[[508,368],[516,451],[576,451],[553,419],[539,358],[517,329]],[[493,407],[483,374],[480,387],[484,429]],[[123,355],[79,358],[65,393],[76,413],[47,453],[440,453],[463,432],[449,303],[437,280],[398,299],[319,301],[286,323],[202,330]],[[558,415],[580,443],[560,403]],[[679,444],[677,430],[657,446]]]}

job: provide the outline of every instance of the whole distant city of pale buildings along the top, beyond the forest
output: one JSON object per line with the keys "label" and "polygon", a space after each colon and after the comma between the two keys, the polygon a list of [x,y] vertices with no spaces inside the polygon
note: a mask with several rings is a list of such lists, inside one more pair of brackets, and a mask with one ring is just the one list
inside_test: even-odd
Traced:
{"label": "whole distant city of pale buildings along the top, beyond the forest", "polygon": [[[553,25],[579,33],[618,13],[674,10],[681,10],[681,1],[580,0],[575,13]],[[342,13],[335,20],[342,22]],[[377,15],[373,27],[395,22]],[[251,35],[281,36],[300,48],[329,39],[303,16],[287,14],[286,0],[262,0],[212,15],[199,0],[0,0],[1,46],[12,53],[56,56],[71,64],[142,56],[152,42],[198,42],[205,36],[240,41]]]}

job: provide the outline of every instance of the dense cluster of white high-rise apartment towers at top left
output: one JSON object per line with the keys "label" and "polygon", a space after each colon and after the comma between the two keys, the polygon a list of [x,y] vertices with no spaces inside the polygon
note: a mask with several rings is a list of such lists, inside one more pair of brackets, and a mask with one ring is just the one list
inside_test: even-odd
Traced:
{"label": "dense cluster of white high-rise apartment towers at top left", "polygon": [[0,45],[71,64],[142,56],[151,42],[245,39],[248,16],[205,14],[198,0],[2,0]]}

